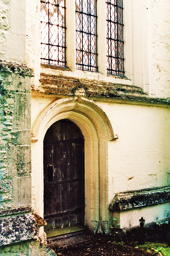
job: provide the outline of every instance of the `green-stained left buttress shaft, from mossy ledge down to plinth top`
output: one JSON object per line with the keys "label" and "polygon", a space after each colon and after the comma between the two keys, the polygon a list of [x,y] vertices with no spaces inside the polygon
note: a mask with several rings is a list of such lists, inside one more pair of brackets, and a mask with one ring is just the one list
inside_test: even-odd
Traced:
{"label": "green-stained left buttress shaft, from mossy ledge down to plinth top", "polygon": [[0,62],[0,210],[31,205],[30,76],[24,65]]}

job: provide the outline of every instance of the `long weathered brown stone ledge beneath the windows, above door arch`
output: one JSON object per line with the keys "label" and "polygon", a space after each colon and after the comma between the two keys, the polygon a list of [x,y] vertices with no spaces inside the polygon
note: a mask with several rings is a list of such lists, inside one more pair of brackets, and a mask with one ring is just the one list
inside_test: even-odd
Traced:
{"label": "long weathered brown stone ledge beneath the windows, above door arch", "polygon": [[74,96],[74,88],[78,87],[85,90],[87,98],[95,98],[96,100],[106,98],[170,106],[170,98],[149,97],[142,88],[137,86],[45,73],[40,74],[40,86],[37,88],[32,86],[32,92],[58,96]]}

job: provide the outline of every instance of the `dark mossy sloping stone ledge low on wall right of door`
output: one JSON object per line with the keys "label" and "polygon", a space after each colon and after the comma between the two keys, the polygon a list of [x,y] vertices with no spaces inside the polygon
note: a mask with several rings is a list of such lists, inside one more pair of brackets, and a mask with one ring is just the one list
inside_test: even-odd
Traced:
{"label": "dark mossy sloping stone ledge low on wall right of door", "polygon": [[109,209],[125,211],[167,202],[170,202],[169,186],[118,193],[110,203]]}

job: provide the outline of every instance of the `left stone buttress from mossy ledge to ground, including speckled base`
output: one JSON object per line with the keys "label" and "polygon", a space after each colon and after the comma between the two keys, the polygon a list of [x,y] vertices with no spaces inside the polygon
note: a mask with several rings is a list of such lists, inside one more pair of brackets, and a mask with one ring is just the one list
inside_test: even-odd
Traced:
{"label": "left stone buttress from mossy ledge to ground, including speckled base", "polygon": [[30,207],[32,70],[0,61],[0,72],[0,254],[55,255],[35,242],[38,227]]}

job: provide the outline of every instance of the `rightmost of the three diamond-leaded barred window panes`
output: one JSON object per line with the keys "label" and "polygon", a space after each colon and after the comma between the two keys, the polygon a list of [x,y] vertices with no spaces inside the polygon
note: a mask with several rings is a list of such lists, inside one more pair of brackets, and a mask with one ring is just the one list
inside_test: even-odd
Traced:
{"label": "rightmost of the three diamond-leaded barred window panes", "polygon": [[107,72],[124,76],[123,0],[106,1]]}

